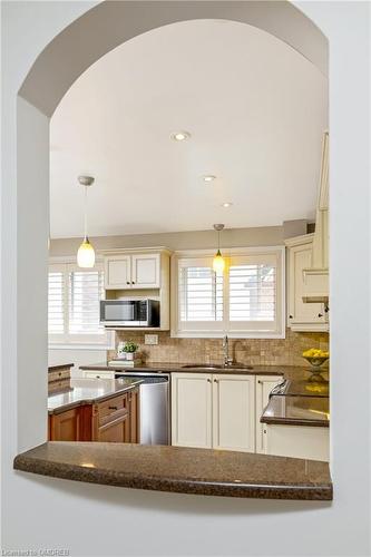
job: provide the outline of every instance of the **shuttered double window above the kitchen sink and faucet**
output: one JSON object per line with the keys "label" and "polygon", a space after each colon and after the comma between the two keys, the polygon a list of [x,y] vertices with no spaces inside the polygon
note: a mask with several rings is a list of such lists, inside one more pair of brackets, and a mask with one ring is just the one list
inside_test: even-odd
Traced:
{"label": "shuttered double window above the kitchen sink and faucet", "polygon": [[176,254],[174,336],[284,336],[283,247],[224,251],[223,274],[214,273],[213,256],[195,255]]}

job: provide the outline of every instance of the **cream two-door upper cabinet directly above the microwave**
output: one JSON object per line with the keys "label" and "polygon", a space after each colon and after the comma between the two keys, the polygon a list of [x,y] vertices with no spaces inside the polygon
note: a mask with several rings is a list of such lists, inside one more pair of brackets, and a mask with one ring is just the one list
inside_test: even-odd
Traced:
{"label": "cream two-door upper cabinet directly above the microwave", "polygon": [[105,255],[105,289],[160,289],[159,252],[113,253]]}

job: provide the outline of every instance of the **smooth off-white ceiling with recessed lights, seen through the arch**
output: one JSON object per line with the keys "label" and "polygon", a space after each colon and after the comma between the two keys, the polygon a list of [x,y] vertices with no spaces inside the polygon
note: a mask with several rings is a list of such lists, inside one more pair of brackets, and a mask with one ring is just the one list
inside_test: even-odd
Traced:
{"label": "smooth off-white ceiling with recessed lights, seen through the arch", "polygon": [[[51,236],[82,234],[80,174],[96,178],[91,236],[313,218],[326,98],[310,61],[243,23],[187,21],[126,42],[51,119]],[[191,137],[174,141],[178,130]]]}

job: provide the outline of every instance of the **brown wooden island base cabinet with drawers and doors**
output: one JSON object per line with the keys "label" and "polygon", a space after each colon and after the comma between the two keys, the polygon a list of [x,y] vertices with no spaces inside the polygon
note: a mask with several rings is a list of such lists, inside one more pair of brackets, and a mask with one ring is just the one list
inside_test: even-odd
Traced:
{"label": "brown wooden island base cabinet with drawers and doors", "polygon": [[138,390],[49,416],[49,441],[138,442]]}

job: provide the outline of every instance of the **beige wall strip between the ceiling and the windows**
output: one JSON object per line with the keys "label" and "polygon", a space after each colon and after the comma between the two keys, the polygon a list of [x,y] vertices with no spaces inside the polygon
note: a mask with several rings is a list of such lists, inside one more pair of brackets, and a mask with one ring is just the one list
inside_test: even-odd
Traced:
{"label": "beige wall strip between the ceiling and the windows", "polygon": [[[82,216],[81,216],[82,218]],[[306,221],[287,221],[282,226],[262,226],[257,228],[231,228],[221,234],[222,247],[250,247],[282,245],[284,238],[305,234]],[[141,234],[127,236],[91,237],[94,247],[113,250],[115,247],[165,246],[169,250],[203,250],[215,247],[217,236],[214,231],[174,232],[170,234]],[[75,255],[81,238],[51,240],[49,255]]]}

